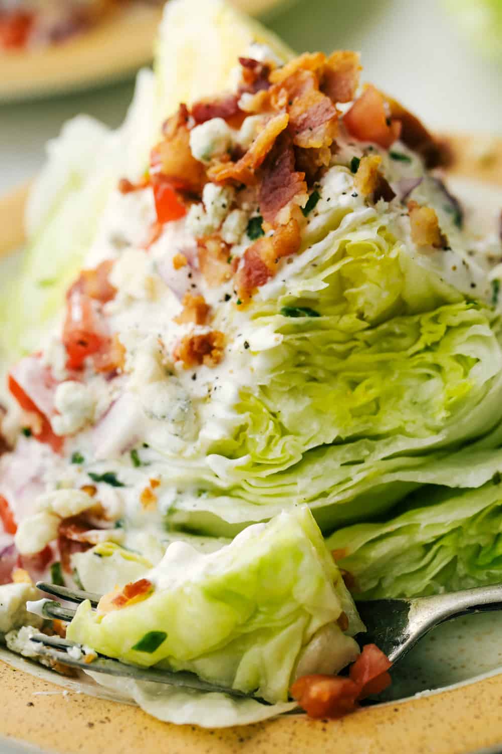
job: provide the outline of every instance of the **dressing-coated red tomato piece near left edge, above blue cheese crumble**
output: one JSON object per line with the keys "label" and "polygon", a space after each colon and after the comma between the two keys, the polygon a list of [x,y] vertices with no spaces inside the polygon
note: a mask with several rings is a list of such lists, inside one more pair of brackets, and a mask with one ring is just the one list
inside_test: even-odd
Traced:
{"label": "dressing-coated red tomato piece near left edge, above blue cheese crumble", "polygon": [[35,440],[50,445],[58,453],[64,440],[54,434],[50,426],[49,416],[53,411],[56,389],[50,369],[41,363],[38,355],[27,356],[8,375],[8,388],[24,411],[38,415],[40,427],[32,430]]}

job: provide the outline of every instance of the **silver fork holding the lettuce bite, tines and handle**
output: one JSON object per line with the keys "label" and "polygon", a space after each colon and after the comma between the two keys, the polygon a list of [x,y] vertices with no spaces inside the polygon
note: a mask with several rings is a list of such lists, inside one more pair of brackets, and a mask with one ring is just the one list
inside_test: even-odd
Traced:
{"label": "silver fork holding the lettuce bite, tines and handle", "polygon": [[[56,584],[39,581],[41,591],[58,596],[67,602],[83,602],[89,599],[96,608],[100,599],[99,594],[82,590],[71,590]],[[356,602],[361,619],[366,624],[366,633],[360,633],[357,640],[361,647],[366,644],[376,644],[387,655],[393,665],[404,657],[418,641],[431,629],[451,618],[458,618],[469,613],[502,609],[502,584],[491,587],[476,587],[459,592],[438,594],[431,597],[415,597],[412,599],[374,599]],[[43,613],[46,618],[58,618],[61,621],[71,621],[75,610],[65,608],[55,601],[44,602]],[[194,688],[199,691],[220,691],[233,697],[252,697],[266,704],[266,701],[245,694],[235,688],[226,688],[199,679],[194,673],[185,671],[173,672],[159,668],[145,668],[129,665],[119,660],[97,655],[92,662],[76,659],[68,654],[68,649],[77,647],[84,651],[81,645],[59,639],[57,636],[45,636],[38,633],[32,636],[32,642],[40,644],[39,654],[59,661],[64,665],[79,667],[82,670],[93,670],[96,673],[107,673],[111,676],[123,676],[140,681],[166,683],[184,688]]]}

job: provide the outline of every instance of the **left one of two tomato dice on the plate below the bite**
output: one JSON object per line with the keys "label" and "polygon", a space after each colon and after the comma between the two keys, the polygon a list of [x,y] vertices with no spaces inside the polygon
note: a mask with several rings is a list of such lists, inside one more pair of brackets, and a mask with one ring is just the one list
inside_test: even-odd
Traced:
{"label": "left one of two tomato dice on the plate below the bite", "polygon": [[360,687],[342,676],[302,676],[291,686],[291,696],[309,717],[337,719],[357,709]]}

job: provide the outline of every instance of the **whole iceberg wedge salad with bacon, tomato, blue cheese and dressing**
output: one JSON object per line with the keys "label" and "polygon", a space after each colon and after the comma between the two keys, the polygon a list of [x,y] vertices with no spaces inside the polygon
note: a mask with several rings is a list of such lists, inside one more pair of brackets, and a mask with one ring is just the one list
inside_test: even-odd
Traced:
{"label": "whole iceberg wedge salad with bacon, tomato, blue cheese and dressing", "polygon": [[[354,52],[171,0],[123,127],[67,124],[29,200],[0,637],[248,694],[120,683],[163,720],[339,717],[391,680],[354,596],[500,579],[500,239],[360,78]],[[102,599],[51,624],[42,576]]]}

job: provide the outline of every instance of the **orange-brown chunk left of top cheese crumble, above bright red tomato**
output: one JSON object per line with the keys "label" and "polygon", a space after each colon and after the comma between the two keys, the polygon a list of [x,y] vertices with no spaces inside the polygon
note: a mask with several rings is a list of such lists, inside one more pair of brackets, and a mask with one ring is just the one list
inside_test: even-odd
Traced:
{"label": "orange-brown chunk left of top cheese crumble, above bright red tomato", "polygon": [[164,138],[151,151],[150,172],[169,179],[173,189],[199,195],[205,185],[205,167],[190,149],[188,110],[180,105],[163,126]]}

